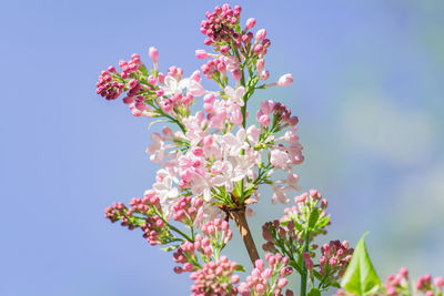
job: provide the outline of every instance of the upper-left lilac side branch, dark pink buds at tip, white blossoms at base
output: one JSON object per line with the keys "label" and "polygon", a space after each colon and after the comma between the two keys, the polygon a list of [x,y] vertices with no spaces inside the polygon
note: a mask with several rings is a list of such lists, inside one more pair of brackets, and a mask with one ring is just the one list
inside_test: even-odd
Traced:
{"label": "upper-left lilac side branch, dark pink buds at tip, white blossoms at base", "polygon": [[165,75],[158,71],[159,51],[150,48],[149,53],[153,60],[153,71],[149,72],[140,55],[134,53],[130,61],[119,62],[121,72],[112,65],[108,71],[102,71],[97,93],[107,100],[115,100],[128,91],[123,103],[135,116],[173,115],[176,119],[185,115],[194,98],[205,92],[200,84],[200,72],[182,79],[183,70],[173,65]]}

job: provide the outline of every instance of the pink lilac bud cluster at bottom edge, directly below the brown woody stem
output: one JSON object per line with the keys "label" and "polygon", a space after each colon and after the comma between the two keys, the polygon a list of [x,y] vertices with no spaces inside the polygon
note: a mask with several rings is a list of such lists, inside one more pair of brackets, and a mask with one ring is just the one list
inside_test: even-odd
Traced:
{"label": "pink lilac bud cluster at bottom edge, directly below the brown woody stem", "polygon": [[[265,263],[258,259],[254,263],[254,268],[251,275],[246,277],[244,283],[239,284],[239,293],[242,296],[250,295],[283,295],[289,280],[285,278],[293,273],[293,268],[289,265],[289,257],[283,257],[281,254],[265,254],[265,261],[269,267],[265,268]],[[286,290],[285,295],[293,295],[293,292]]]}

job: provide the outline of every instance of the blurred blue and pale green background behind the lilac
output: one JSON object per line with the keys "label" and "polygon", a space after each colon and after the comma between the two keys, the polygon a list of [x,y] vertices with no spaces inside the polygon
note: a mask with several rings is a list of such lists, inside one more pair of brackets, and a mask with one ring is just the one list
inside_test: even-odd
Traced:
{"label": "blurred blue and pale green background behind the lilac", "polygon": [[[134,52],[149,64],[150,45],[161,70],[191,74],[200,21],[222,3],[1,2],[0,295],[189,295],[171,254],[103,217],[149,188],[158,166],[144,153],[150,121],[94,84]],[[444,275],[444,2],[230,3],[266,28],[270,81],[294,74],[254,100],[299,115],[300,185],[330,201],[325,241],[354,245],[370,231],[382,278],[401,266]],[[284,208],[269,195],[250,221],[256,235]],[[228,254],[249,266],[239,236]]]}

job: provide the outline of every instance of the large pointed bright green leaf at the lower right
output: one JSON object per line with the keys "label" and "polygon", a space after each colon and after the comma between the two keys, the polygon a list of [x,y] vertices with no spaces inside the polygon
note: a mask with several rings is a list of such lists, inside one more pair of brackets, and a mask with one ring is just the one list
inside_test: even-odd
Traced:
{"label": "large pointed bright green leaf at the lower right", "polygon": [[353,258],[341,283],[344,289],[359,296],[375,294],[381,287],[381,280],[377,277],[365,247],[365,235],[367,235],[367,233],[357,242]]}

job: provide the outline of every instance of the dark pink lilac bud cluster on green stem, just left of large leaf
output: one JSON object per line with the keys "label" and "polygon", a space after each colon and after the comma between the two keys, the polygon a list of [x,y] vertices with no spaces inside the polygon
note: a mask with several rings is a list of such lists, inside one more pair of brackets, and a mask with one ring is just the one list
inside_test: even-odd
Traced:
{"label": "dark pink lilac bud cluster on green stem, just left of large leaf", "polygon": [[319,289],[326,290],[337,285],[352,258],[353,248],[349,248],[346,241],[331,241],[321,247],[319,264],[314,265],[317,244],[313,241],[319,234],[325,234],[325,226],[330,224],[330,216],[325,213],[327,201],[316,190],[297,195],[294,201],[295,205],[286,207],[281,220],[262,226],[266,241],[262,247],[289,256],[297,273],[310,276],[312,283],[316,278]]}

